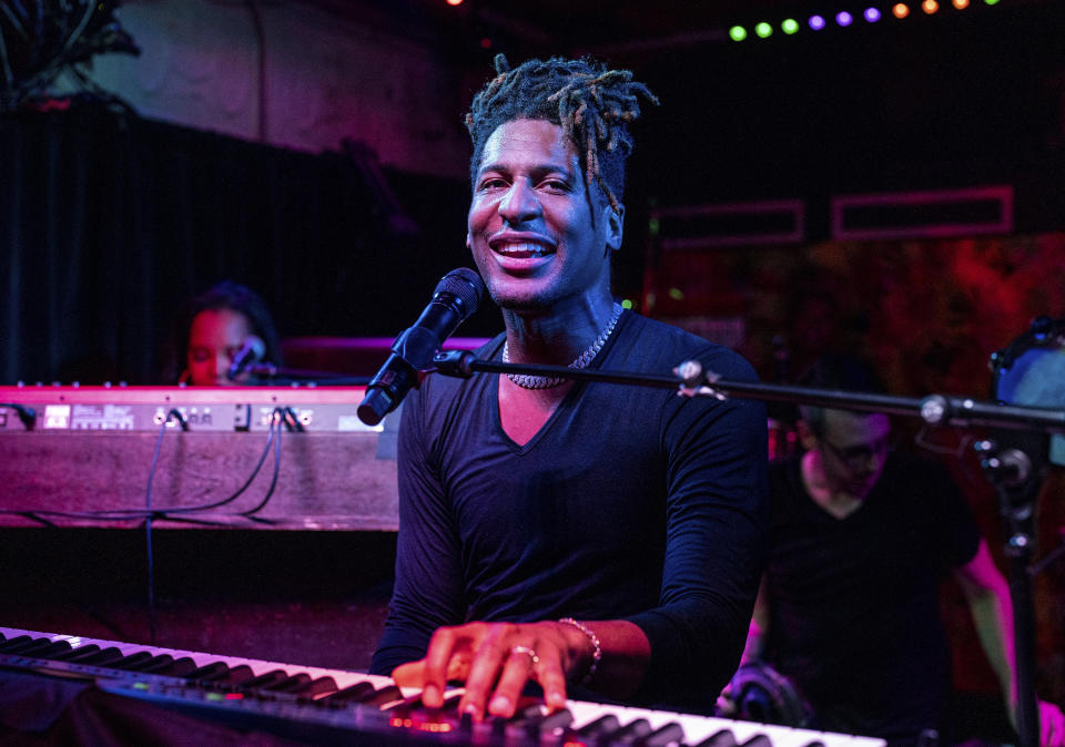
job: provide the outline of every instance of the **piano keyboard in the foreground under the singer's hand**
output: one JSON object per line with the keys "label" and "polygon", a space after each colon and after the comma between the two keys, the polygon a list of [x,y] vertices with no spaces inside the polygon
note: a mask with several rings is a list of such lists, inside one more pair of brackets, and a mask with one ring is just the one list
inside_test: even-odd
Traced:
{"label": "piano keyboard in the foreground under the singer's hand", "polygon": [[0,627],[0,667],[81,676],[97,687],[236,728],[315,745],[488,747],[883,747],[869,737],[569,700],[545,715],[473,724],[429,712],[388,677]]}

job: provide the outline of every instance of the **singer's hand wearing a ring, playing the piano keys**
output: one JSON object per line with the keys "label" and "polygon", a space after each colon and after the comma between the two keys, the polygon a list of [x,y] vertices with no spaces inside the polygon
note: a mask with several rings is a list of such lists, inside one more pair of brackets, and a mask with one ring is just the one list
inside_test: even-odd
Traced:
{"label": "singer's hand wearing a ring, playing the piano keys", "polygon": [[526,683],[538,682],[549,712],[566,707],[566,679],[588,661],[586,636],[570,625],[467,623],[433,634],[425,658],[392,673],[403,687],[420,687],[426,707],[444,705],[448,682],[465,683],[460,714],[509,718]]}

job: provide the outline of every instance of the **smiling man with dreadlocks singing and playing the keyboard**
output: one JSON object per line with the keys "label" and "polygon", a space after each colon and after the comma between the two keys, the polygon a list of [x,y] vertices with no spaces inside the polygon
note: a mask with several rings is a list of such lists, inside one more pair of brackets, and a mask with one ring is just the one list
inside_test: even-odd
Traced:
{"label": "smiling man with dreadlocks singing and playing the keyboard", "polygon": [[[506,331],[480,357],[669,374],[739,356],[625,311],[627,71],[531,60],[474,100],[467,244]],[[765,416],[753,401],[535,376],[428,377],[404,406],[396,584],[373,671],[448,682],[475,718],[534,681],[567,693],[700,703],[731,676],[764,559]],[[701,700],[699,698],[701,697]]]}

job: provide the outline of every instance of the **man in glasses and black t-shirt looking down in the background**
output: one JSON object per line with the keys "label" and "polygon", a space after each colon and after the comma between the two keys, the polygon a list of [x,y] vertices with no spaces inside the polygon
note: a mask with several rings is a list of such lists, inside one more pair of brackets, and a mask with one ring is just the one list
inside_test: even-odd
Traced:
{"label": "man in glasses and black t-shirt looking down in the background", "polygon": [[[884,391],[846,356],[822,357],[802,382]],[[952,744],[939,601],[951,572],[1015,725],[1010,592],[957,485],[942,467],[895,451],[885,415],[800,410],[804,451],[770,465],[770,561],[743,662],[783,675],[805,726]],[[729,697],[741,698],[743,672]],[[1063,744],[1061,709],[1039,712],[1042,744]]]}

